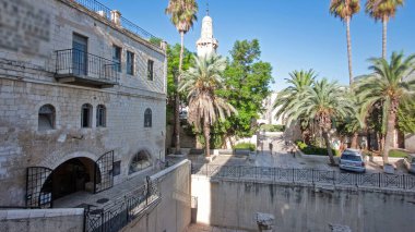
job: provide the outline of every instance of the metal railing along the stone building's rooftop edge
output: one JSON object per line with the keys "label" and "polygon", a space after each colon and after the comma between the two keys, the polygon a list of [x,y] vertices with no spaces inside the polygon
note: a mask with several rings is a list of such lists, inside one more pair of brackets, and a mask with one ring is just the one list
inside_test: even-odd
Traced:
{"label": "metal railing along the stone building's rooftop edge", "polygon": [[[107,8],[106,5],[102,4],[100,2],[96,1],[96,0],[73,0],[73,1],[83,5],[87,10],[99,14],[100,16],[106,19],[107,21],[110,21],[110,19],[111,19],[111,10],[109,8]],[[124,29],[140,36],[141,38],[144,38],[149,41],[152,41],[152,39],[159,40],[159,38],[155,37],[151,33],[149,33],[147,30],[141,28],[137,24],[130,22],[129,20],[127,20],[122,16],[120,17],[120,22],[121,22],[121,27],[123,27]],[[159,45],[156,45],[156,46],[159,46]]]}

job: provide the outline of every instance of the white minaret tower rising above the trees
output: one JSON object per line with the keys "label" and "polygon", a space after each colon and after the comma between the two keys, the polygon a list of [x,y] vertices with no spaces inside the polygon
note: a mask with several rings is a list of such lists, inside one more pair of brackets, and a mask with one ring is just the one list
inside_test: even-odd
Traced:
{"label": "white minaret tower rising above the trees", "polygon": [[206,11],[206,16],[203,17],[201,37],[195,42],[195,47],[198,48],[199,57],[216,53],[218,42],[217,39],[213,38],[212,17],[209,16],[209,9]]}

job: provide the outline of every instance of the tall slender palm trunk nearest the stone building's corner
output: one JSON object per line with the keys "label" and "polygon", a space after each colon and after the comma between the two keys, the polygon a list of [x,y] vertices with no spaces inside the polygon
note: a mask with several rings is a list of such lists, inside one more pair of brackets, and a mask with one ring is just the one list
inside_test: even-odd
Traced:
{"label": "tall slender palm trunk nearest the stone building's corner", "polygon": [[[181,48],[180,48],[180,60],[179,60],[179,74],[175,78],[175,84],[176,84],[176,89],[179,88],[179,83],[180,83],[180,75],[181,75],[181,66],[183,62],[183,50],[185,50],[185,32],[180,32],[180,40],[181,40]],[[178,90],[176,90],[176,96],[175,96],[175,135],[176,135],[176,154],[181,154],[180,150],[180,118],[179,118],[179,112],[180,112],[180,95]]]}

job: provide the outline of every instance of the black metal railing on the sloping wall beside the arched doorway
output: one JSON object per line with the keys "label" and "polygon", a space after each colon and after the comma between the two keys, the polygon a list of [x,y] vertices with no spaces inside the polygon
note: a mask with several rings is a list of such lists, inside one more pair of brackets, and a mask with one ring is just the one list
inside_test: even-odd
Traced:
{"label": "black metal railing on the sloping wall beside the arched doorway", "polygon": [[141,217],[147,208],[159,203],[159,200],[158,183],[147,179],[147,184],[104,206],[103,209],[87,209],[85,211],[84,231],[120,231],[129,222]]}

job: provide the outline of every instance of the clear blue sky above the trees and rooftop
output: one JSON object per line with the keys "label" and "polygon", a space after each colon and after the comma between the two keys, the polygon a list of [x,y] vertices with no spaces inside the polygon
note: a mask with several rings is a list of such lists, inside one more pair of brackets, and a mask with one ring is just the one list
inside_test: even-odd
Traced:
{"label": "clear blue sky above the trees and rooftop", "polygon": [[[98,0],[169,44],[180,38],[164,10],[168,0]],[[198,0],[199,21],[185,37],[195,51],[208,0]],[[366,0],[361,0],[361,4]],[[228,56],[235,40],[260,40],[262,60],[273,65],[273,89],[285,87],[288,73],[315,69],[320,77],[348,83],[345,25],[329,13],[330,0],[209,0],[218,53]],[[381,56],[381,23],[363,10],[352,20],[354,75],[368,72],[368,58]],[[406,0],[388,27],[388,53],[415,53],[415,0]]]}

